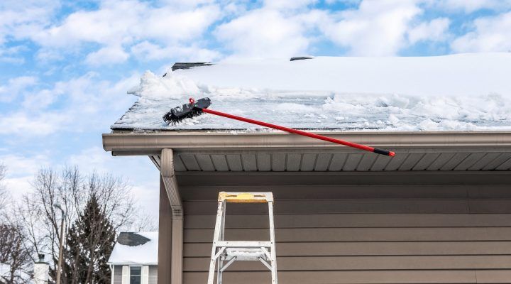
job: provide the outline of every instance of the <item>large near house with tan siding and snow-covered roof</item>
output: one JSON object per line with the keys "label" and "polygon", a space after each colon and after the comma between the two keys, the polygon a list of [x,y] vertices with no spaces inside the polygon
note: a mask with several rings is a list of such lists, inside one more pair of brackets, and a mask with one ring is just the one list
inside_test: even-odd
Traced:
{"label": "large near house with tan siding and snow-covered roof", "polygon": [[[295,58],[297,59],[297,58]],[[220,191],[275,197],[280,283],[510,283],[511,53],[176,64],[145,73],[103,146],[160,170],[158,283],[206,283]],[[395,151],[362,152],[210,109]],[[229,204],[226,239],[268,238]],[[270,283],[233,263],[224,283]]]}

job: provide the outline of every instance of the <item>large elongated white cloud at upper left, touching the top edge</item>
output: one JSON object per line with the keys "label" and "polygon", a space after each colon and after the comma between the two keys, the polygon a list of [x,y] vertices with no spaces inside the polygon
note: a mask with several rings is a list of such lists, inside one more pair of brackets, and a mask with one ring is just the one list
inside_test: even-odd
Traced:
{"label": "large elongated white cloud at upper left, touching the top edge", "polygon": [[[193,2],[193,3],[192,3]],[[153,6],[147,1],[101,1],[99,9],[76,11],[62,23],[26,34],[43,49],[41,60],[60,59],[60,50],[69,52],[85,43],[96,43],[99,50],[87,55],[90,65],[125,62],[133,45],[145,41],[165,48],[197,45],[202,33],[218,20],[221,9],[211,1],[170,1]]]}

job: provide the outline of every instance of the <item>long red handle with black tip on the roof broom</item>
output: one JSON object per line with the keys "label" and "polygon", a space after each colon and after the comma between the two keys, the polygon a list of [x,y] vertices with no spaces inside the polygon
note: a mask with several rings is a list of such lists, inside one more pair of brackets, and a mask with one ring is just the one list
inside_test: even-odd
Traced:
{"label": "long red handle with black tip on the roof broom", "polygon": [[314,133],[309,133],[309,132],[301,131],[301,130],[297,130],[297,129],[290,129],[288,127],[278,126],[278,125],[275,125],[275,124],[268,124],[268,123],[263,122],[263,121],[257,121],[257,120],[253,120],[253,119],[246,119],[246,118],[241,117],[241,116],[235,116],[235,115],[232,115],[232,114],[226,114],[226,113],[220,112],[220,111],[213,111],[211,109],[202,109],[202,111],[207,112],[208,114],[214,114],[214,115],[217,115],[217,116],[224,116],[224,117],[226,117],[228,119],[236,119],[236,120],[239,120],[239,121],[248,122],[249,124],[257,124],[257,125],[260,125],[260,126],[270,127],[272,129],[278,129],[278,130],[282,130],[282,131],[287,131],[289,133],[295,133],[295,134],[302,135],[302,136],[308,136],[308,137],[311,137],[311,138],[316,138],[316,139],[320,139],[320,140],[324,140],[324,141],[329,141],[329,142],[332,142],[332,143],[346,145],[346,146],[349,146],[349,147],[358,148],[358,149],[369,151],[369,152],[373,152],[373,153],[378,153],[378,154],[382,154],[382,155],[389,155],[390,157],[394,157],[394,155],[395,155],[395,153],[392,152],[392,151],[387,151],[387,150],[382,150],[382,149],[378,149],[378,148],[373,148],[373,147],[369,147],[369,146],[365,146],[365,145],[361,145],[361,144],[357,144],[357,143],[353,143],[353,142],[348,142],[348,141],[344,141],[344,140],[340,140],[340,139],[336,139],[336,138],[330,138],[330,137],[326,137],[326,136],[322,136],[322,135],[314,134]]}

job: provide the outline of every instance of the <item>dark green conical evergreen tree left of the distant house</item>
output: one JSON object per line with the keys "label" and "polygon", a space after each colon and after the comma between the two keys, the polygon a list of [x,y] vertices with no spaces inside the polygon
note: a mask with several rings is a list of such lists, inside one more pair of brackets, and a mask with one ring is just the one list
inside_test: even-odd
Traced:
{"label": "dark green conical evergreen tree left of the distant house", "polygon": [[91,195],[82,214],[67,234],[62,283],[96,284],[110,282],[106,264],[114,249],[115,229]]}

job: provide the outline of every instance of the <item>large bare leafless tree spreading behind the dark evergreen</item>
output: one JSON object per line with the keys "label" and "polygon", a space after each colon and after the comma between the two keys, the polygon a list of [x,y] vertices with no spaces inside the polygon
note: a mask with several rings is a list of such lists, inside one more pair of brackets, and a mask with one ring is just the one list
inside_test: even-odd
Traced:
{"label": "large bare leafless tree spreading behind the dark evergreen", "polygon": [[[66,234],[92,195],[97,197],[101,212],[115,231],[124,231],[138,224],[139,209],[131,196],[131,187],[121,178],[97,173],[83,175],[76,167],[64,168],[62,173],[47,168],[35,175],[32,187],[33,192],[25,195],[18,207],[21,213],[19,222],[28,246],[33,247],[36,253],[49,254],[54,260],[50,263],[50,275],[54,280],[61,216],[53,206],[55,203],[59,203],[66,212]],[[71,283],[71,280],[62,279],[62,283]]]}

